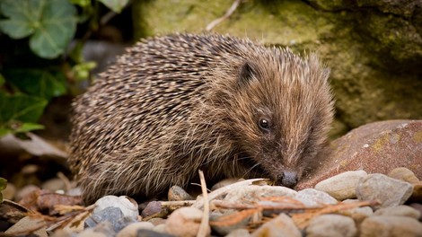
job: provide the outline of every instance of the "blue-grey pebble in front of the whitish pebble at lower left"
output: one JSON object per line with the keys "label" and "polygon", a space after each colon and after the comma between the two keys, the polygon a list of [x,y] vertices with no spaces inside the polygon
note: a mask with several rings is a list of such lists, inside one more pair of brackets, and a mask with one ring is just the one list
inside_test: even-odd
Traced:
{"label": "blue-grey pebble in front of the whitish pebble at lower left", "polygon": [[136,222],[136,219],[130,216],[124,216],[119,207],[109,206],[99,212],[93,213],[84,223],[84,228],[92,228],[98,224],[108,222],[111,224],[113,230],[119,233],[128,224]]}

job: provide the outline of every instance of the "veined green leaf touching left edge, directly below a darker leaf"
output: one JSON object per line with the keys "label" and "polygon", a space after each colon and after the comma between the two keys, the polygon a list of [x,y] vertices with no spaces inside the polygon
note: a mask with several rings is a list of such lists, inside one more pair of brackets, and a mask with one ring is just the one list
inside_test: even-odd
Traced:
{"label": "veined green leaf touching left edge, directly below a darker leaf", "polygon": [[47,103],[47,100],[39,97],[0,92],[0,127],[7,128],[13,121],[36,123]]}

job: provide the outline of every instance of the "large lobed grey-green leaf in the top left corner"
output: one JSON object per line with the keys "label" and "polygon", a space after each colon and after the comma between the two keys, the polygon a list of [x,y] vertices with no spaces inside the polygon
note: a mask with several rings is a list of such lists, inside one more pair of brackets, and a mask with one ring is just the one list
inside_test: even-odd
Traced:
{"label": "large lobed grey-green leaf in the top left corner", "polygon": [[9,18],[0,29],[13,39],[31,35],[31,50],[40,57],[58,57],[75,35],[76,9],[67,0],[2,0],[0,9]]}

